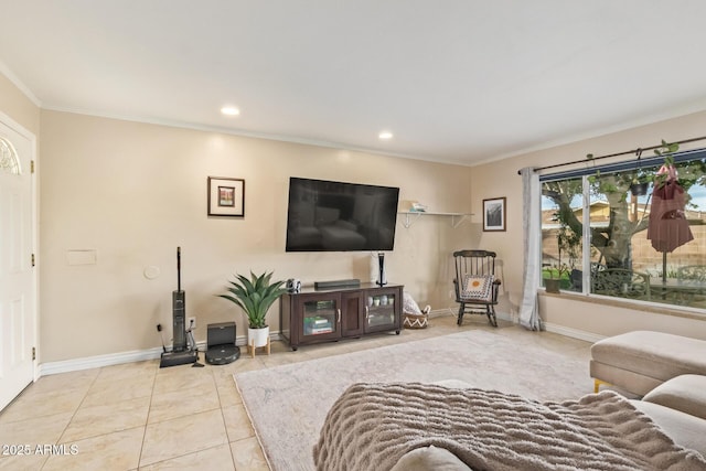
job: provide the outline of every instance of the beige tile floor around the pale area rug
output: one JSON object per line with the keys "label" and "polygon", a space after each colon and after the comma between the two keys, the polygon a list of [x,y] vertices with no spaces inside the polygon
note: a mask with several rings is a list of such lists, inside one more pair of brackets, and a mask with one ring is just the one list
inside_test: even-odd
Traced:
{"label": "beige tile floor around the pale area rug", "polygon": [[[484,317],[432,318],[424,330],[403,330],[292,352],[274,342],[229,365],[159,367],[159,360],[41,377],[0,413],[1,470],[267,470],[233,374],[458,332],[493,329]],[[498,331],[520,335],[500,322]],[[549,334],[553,335],[553,334]],[[543,335],[544,336],[544,335]],[[561,347],[563,342],[554,342]],[[575,349],[569,342],[567,351]],[[584,352],[585,353],[585,352]],[[584,354],[582,353],[582,354]],[[201,363],[203,354],[200,356]],[[52,448],[52,446],[54,446]],[[39,447],[39,448],[38,448]]]}

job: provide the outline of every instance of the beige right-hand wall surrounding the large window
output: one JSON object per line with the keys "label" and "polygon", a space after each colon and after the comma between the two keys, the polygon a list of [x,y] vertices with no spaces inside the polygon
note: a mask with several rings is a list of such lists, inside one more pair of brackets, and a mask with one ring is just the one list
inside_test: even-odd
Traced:
{"label": "beige right-hand wall surrounding the large window", "polygon": [[[522,297],[522,181],[517,170],[524,167],[544,167],[554,163],[582,160],[586,154],[605,156],[639,147],[657,144],[661,139],[680,141],[704,136],[706,113],[684,116],[677,119],[642,126],[599,138],[558,146],[552,149],[526,153],[498,162],[474,167],[471,171],[471,202],[480,214],[479,205],[483,199],[507,197],[507,232],[483,233],[479,245],[498,251],[502,258],[505,274],[505,311],[516,312]],[[691,144],[704,147],[706,141]],[[682,147],[688,149],[687,146]],[[623,158],[624,159],[624,158]],[[561,169],[566,170],[566,169]],[[478,216],[480,217],[480,216]],[[597,312],[600,315],[597,315]],[[632,309],[581,302],[568,296],[542,299],[541,313],[549,328],[558,331],[612,335],[635,329],[654,329],[665,332],[686,333],[706,339],[706,313],[697,312],[700,319],[684,319],[674,315],[642,315]]]}

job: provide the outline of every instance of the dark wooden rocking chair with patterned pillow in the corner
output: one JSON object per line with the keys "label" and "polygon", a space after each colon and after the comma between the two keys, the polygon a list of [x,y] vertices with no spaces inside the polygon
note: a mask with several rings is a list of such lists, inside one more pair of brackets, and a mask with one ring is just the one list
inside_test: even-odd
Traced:
{"label": "dark wooden rocking chair with patterned pillow in the corner", "polygon": [[459,306],[457,324],[463,314],[485,314],[498,327],[495,304],[501,281],[495,278],[495,253],[489,250],[458,250],[453,253],[456,302]]}

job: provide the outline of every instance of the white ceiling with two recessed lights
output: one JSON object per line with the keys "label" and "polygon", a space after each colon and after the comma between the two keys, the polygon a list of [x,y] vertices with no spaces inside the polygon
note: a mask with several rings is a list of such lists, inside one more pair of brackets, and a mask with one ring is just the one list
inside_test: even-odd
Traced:
{"label": "white ceiling with two recessed lights", "polygon": [[[703,0],[0,0],[0,72],[46,109],[463,164],[706,109]],[[225,104],[240,116],[222,116]]]}

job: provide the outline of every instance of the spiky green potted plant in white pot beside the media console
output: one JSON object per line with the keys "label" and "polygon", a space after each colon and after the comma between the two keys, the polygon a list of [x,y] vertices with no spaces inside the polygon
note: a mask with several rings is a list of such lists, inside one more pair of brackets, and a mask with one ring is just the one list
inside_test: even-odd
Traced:
{"label": "spiky green potted plant in white pot beside the media console", "polygon": [[250,279],[236,274],[236,279],[228,281],[228,295],[218,295],[236,303],[247,315],[248,346],[258,347],[267,345],[269,339],[269,325],[267,325],[267,311],[272,303],[287,289],[282,288],[285,281],[270,281],[272,272],[255,275],[250,271]]}

